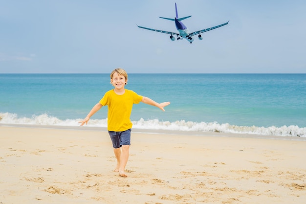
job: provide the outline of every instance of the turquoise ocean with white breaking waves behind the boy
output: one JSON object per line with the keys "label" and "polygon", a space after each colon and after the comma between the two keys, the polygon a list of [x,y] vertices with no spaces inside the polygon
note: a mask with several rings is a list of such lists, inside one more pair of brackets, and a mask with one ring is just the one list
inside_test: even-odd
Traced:
{"label": "turquoise ocean with white breaking waves behind the boy", "polygon": [[[106,91],[109,74],[0,74],[0,125],[79,126]],[[133,127],[306,137],[306,74],[129,74]],[[107,107],[89,120],[107,127]]]}

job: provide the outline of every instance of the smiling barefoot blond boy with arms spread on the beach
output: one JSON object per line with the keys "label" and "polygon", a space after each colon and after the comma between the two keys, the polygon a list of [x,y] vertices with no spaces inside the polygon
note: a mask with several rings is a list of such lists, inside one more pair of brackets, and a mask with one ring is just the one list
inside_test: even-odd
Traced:
{"label": "smiling barefoot blond boy with arms spread on the beach", "polygon": [[119,172],[119,176],[127,177],[125,167],[129,159],[129,150],[131,145],[131,127],[130,120],[133,104],[143,102],[160,108],[162,111],[170,102],[156,103],[152,99],[138,95],[134,91],[127,90],[124,86],[128,82],[128,74],[122,68],[114,69],[110,74],[110,84],[114,86],[113,90],[107,91],[103,98],[88,113],[81,126],[87,124],[89,118],[99,111],[102,106],[108,106],[108,131],[112,141],[113,151],[117,159],[117,166],[114,172]]}

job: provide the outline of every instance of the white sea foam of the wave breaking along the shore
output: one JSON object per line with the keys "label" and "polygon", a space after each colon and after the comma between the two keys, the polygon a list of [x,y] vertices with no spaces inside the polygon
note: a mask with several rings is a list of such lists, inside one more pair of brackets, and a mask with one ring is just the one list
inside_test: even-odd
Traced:
{"label": "white sea foam of the wave breaking along the shore", "polygon": [[[29,117],[18,117],[14,113],[0,113],[0,124],[28,124],[28,125],[57,125],[57,126],[79,126],[78,119],[61,120],[48,114],[33,115]],[[133,128],[151,130],[173,130],[173,131],[197,131],[197,132],[221,132],[236,134],[257,134],[269,136],[300,136],[306,137],[306,127],[282,126],[282,127],[256,127],[256,126],[236,126],[228,123],[218,122],[192,122],[192,121],[159,121],[158,119],[132,121]],[[91,119],[87,126],[107,127],[107,119]]]}

